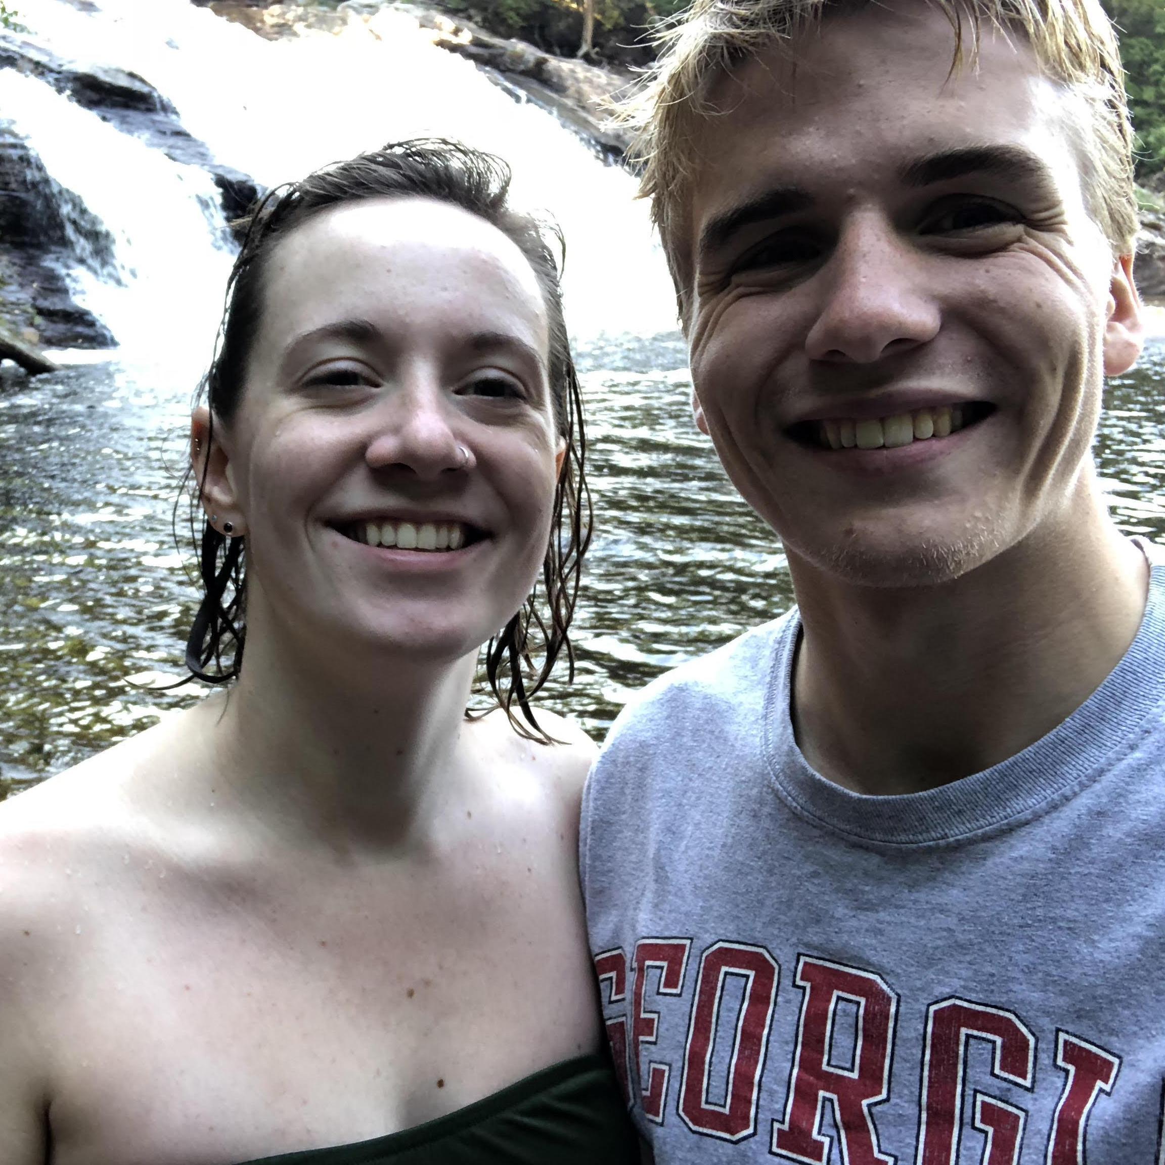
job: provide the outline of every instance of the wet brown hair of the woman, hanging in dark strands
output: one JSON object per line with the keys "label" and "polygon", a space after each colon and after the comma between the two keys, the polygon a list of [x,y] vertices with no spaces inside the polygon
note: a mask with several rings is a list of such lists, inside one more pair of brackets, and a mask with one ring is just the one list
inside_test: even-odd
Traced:
{"label": "wet brown hair of the woman, hanging in dark strands", "polygon": [[[235,415],[263,311],[270,255],[282,239],[322,211],[365,198],[432,198],[476,214],[510,239],[530,263],[545,301],[551,404],[566,456],[555,489],[541,586],[535,582],[521,610],[486,644],[483,663],[489,689],[514,728],[530,740],[549,743],[551,737],[538,727],[530,700],[564,652],[569,678],[574,678],[567,633],[582,556],[591,541],[591,495],[582,400],[555,260],[556,249],[560,256],[564,253],[562,234],[557,227],[511,210],[509,185],[510,170],[501,158],[458,142],[426,137],[390,143],[269,191],[239,224],[242,247],[227,281],[214,356],[196,403],[205,400],[210,407],[211,435],[216,422],[230,423]],[[188,472],[188,480],[192,473]],[[209,684],[224,684],[238,678],[246,645],[246,538],[228,538],[206,520],[204,480],[205,469],[191,490],[190,532],[204,594],[186,641],[186,668]],[[537,668],[536,657],[541,658]]]}

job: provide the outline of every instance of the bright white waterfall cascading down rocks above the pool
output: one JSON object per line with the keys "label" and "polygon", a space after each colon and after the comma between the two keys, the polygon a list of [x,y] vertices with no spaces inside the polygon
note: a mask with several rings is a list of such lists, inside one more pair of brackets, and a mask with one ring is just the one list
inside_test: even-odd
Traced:
{"label": "bright white waterfall cascading down rocks above the pool", "polygon": [[[515,200],[567,240],[566,309],[581,341],[671,331],[675,306],[634,179],[550,114],[518,104],[416,21],[382,9],[338,34],[269,42],[189,0],[21,0],[62,56],[139,73],[219,162],[275,185],[387,141],[460,139],[514,168]],[[127,350],[209,345],[228,255],[202,171],[177,165],[47,85],[0,71],[0,115],[113,233],[123,287],[77,273],[79,298]],[[211,196],[211,197],[207,197]],[[150,354],[156,354],[151,352]]]}

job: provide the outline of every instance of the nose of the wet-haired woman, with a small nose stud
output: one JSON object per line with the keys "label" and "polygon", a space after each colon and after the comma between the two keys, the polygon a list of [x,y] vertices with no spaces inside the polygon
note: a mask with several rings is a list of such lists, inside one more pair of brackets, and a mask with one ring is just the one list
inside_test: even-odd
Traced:
{"label": "nose of the wet-haired woman, with a small nose stud", "polygon": [[373,469],[398,468],[421,480],[472,464],[471,443],[461,433],[457,400],[423,368],[404,372],[377,402],[365,460]]}

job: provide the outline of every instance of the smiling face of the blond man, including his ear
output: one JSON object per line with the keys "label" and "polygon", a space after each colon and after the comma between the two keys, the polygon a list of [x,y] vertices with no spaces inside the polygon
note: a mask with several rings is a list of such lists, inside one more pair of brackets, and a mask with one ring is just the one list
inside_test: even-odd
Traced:
{"label": "smiling face of the blond man, including his ear", "polygon": [[793,557],[941,581],[1089,501],[1104,373],[1139,350],[1085,205],[1079,98],[984,30],[949,77],[917,0],[726,77],[697,142],[697,421]]}

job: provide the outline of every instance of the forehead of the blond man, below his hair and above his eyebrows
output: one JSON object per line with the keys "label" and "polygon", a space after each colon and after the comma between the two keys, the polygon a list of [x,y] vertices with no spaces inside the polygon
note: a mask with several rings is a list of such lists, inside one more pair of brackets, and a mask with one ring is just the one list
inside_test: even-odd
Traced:
{"label": "forehead of the blond man, below his hair and above his eyebrows", "polygon": [[[934,160],[974,151],[982,169],[1033,177],[1051,149],[1060,155],[1052,167],[1074,183],[1076,161],[1052,148],[1053,139],[1065,141],[1065,87],[1023,42],[984,36],[975,68],[952,73],[954,47],[949,23],[918,5],[904,17],[831,17],[819,33],[800,34],[792,52],[741,62],[713,89],[714,112],[692,127],[685,225],[704,234],[742,204],[771,198],[793,209],[797,197],[816,197],[824,185],[835,193],[873,171],[917,185],[919,174],[941,169]],[[966,172],[966,161],[947,169]]]}

